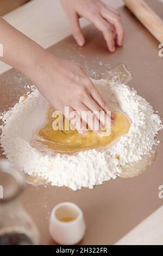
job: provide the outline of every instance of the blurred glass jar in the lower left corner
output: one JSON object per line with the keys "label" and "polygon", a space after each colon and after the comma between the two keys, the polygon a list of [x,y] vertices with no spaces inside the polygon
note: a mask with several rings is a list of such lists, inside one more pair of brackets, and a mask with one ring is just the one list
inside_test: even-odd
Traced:
{"label": "blurred glass jar in the lower left corner", "polygon": [[0,245],[39,243],[39,232],[20,200],[25,184],[22,172],[0,160]]}

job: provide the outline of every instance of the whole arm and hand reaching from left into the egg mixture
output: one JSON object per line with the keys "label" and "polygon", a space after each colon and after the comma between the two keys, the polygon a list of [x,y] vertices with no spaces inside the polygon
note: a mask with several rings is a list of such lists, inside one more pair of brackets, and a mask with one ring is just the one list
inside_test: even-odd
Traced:
{"label": "whole arm and hand reaching from left into the egg mixture", "polygon": [[[55,110],[63,114],[65,107],[69,107],[70,112],[78,111],[79,118],[85,124],[84,127],[82,123],[82,130],[86,129],[86,124],[95,130],[92,126],[94,111],[97,113],[93,115],[93,120],[107,126],[106,112],[110,111],[109,106],[86,76],[82,66],[53,56],[1,17],[0,31],[4,46],[4,56],[0,60],[26,75]],[[99,117],[101,110],[104,110],[104,117]],[[82,115],[83,111],[90,111],[91,114]],[[76,124],[77,130],[81,129],[80,124],[80,121]]]}

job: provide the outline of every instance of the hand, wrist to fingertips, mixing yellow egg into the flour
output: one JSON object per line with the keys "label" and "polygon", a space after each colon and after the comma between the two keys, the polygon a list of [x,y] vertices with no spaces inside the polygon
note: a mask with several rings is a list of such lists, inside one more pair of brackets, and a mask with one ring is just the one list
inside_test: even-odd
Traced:
{"label": "hand, wrist to fingertips, mixing yellow egg into the flour", "polygon": [[[55,110],[65,114],[65,107],[69,107],[70,113],[78,112],[79,121],[74,124],[78,131],[86,130],[86,124],[91,130],[97,131],[95,120],[99,127],[107,125],[106,118],[110,119],[110,115],[106,115],[106,112],[110,108],[78,63],[48,54],[37,65],[32,81]],[[87,115],[83,115],[84,111]],[[93,123],[92,113],[88,114],[90,111],[97,112],[93,114]],[[105,112],[104,117],[98,116],[100,111]],[[80,119],[83,119],[83,126]]]}

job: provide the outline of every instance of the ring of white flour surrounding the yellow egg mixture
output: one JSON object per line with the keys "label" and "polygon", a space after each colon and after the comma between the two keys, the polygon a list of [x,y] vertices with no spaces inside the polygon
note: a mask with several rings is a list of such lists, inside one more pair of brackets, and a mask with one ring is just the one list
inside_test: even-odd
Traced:
{"label": "ring of white flour surrounding the yellow egg mixture", "polygon": [[[117,82],[93,80],[105,99],[126,113],[131,127],[111,148],[80,151],[74,155],[41,153],[30,141],[33,131],[45,122],[47,102],[35,89],[25,101],[2,115],[1,144],[4,154],[25,173],[45,178],[54,186],[72,190],[93,188],[104,181],[116,179],[121,166],[142,159],[157,144],[155,136],[162,124],[158,114],[135,90]],[[106,96],[107,95],[107,96]],[[116,159],[120,157],[120,160]]]}

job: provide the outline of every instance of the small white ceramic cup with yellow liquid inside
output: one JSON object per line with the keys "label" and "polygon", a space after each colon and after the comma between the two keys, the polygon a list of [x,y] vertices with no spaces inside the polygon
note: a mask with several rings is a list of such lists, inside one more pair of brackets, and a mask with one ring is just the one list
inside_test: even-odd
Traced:
{"label": "small white ceramic cup with yellow liquid inside", "polygon": [[59,245],[76,245],[85,234],[82,210],[76,204],[69,202],[57,204],[51,213],[49,231],[53,240]]}

